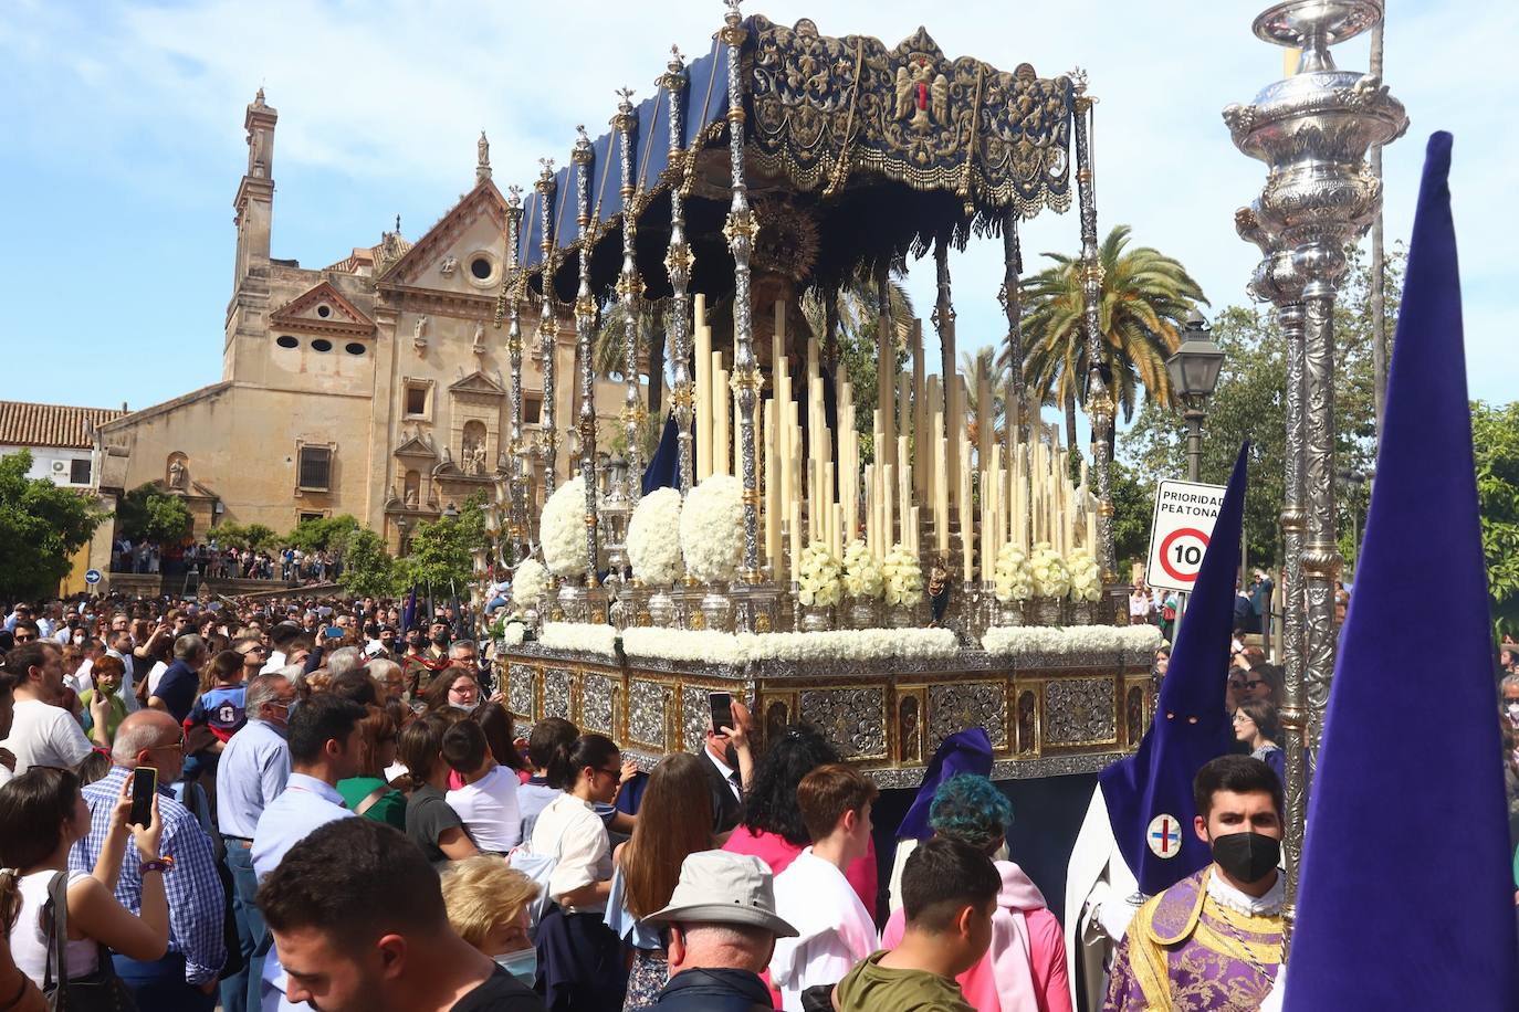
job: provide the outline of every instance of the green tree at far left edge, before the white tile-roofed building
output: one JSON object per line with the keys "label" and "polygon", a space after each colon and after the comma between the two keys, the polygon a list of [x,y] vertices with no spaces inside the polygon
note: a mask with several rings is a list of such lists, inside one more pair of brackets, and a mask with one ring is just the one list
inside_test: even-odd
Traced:
{"label": "green tree at far left edge, before the white tile-roofed building", "polygon": [[27,478],[32,454],[0,457],[0,598],[49,598],[71,557],[109,513],[46,478]]}

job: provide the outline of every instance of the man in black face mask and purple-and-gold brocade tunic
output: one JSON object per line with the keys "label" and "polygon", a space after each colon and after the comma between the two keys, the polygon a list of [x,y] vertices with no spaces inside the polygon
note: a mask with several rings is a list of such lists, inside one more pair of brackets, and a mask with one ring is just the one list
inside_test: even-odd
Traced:
{"label": "man in black face mask and purple-and-gold brocade tunic", "polygon": [[1192,780],[1214,862],[1135,913],[1104,1009],[1258,1009],[1282,962],[1282,784],[1259,759],[1221,756]]}

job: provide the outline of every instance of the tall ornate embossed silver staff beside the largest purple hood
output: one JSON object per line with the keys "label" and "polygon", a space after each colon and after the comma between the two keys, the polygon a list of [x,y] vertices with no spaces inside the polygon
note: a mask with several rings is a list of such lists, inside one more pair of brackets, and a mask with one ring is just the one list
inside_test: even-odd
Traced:
{"label": "tall ornate embossed silver staff beside the largest purple hood", "polygon": [[[1381,0],[1285,0],[1271,6],[1255,20],[1255,33],[1300,49],[1297,73],[1264,88],[1250,105],[1224,109],[1235,146],[1268,168],[1253,212],[1259,229],[1274,237],[1265,247],[1291,258],[1291,284],[1281,293],[1285,305],[1293,305],[1296,285],[1302,285],[1303,411],[1296,435],[1303,449],[1296,476],[1306,507],[1300,551],[1305,599],[1288,587],[1287,610],[1302,610],[1305,633],[1300,681],[1293,684],[1288,672],[1287,701],[1297,709],[1306,699],[1306,730],[1299,730],[1299,743],[1288,751],[1288,763],[1296,757],[1299,765],[1290,781],[1305,792],[1311,790],[1303,774],[1306,756],[1323,728],[1334,674],[1334,583],[1341,563],[1334,501],[1334,303],[1346,269],[1344,247],[1366,234],[1382,200],[1381,181],[1366,164],[1367,149],[1408,129],[1402,103],[1382,82],[1338,70],[1329,47],[1381,17]],[[1296,328],[1293,317],[1284,323]],[[1297,442],[1291,432],[1288,440],[1288,446]],[[1284,513],[1291,513],[1291,502]],[[1300,710],[1293,716],[1302,727]],[[1305,815],[1299,806],[1288,822],[1288,853],[1302,853]],[[1290,938],[1296,868],[1290,866],[1287,885]]]}

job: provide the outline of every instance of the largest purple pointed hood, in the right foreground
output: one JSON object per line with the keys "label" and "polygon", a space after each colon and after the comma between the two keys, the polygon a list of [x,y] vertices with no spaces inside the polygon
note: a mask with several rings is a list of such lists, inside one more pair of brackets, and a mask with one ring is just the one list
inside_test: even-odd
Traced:
{"label": "largest purple pointed hood, in the right foreground", "polygon": [[[1293,1012],[1519,1009],[1449,168],[1451,135],[1434,134],[1308,806]],[[1431,580],[1438,621],[1408,611]]]}

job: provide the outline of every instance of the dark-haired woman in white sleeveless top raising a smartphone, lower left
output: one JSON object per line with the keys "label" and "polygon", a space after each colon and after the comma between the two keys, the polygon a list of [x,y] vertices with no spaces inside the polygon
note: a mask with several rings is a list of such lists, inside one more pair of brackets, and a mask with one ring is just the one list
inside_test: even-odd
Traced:
{"label": "dark-haired woman in white sleeveless top raising a smartphone, lower left", "polygon": [[[169,947],[169,900],[164,895],[167,863],[158,856],[163,824],[158,795],[146,827],[128,825],[132,778],[111,813],[111,828],[91,874],[68,872],[68,850],[90,833],[90,809],[79,794],[79,778],[67,769],[33,766],[0,786],[0,919],[11,938],[15,965],[43,985],[49,970],[52,924],[44,910],[47,891],[58,874],[68,875],[67,924],[70,980],[109,977],[112,948],[129,959],[159,959]],[[140,916],[115,898],[128,836],[143,866]],[[56,971],[55,971],[56,973]]]}

